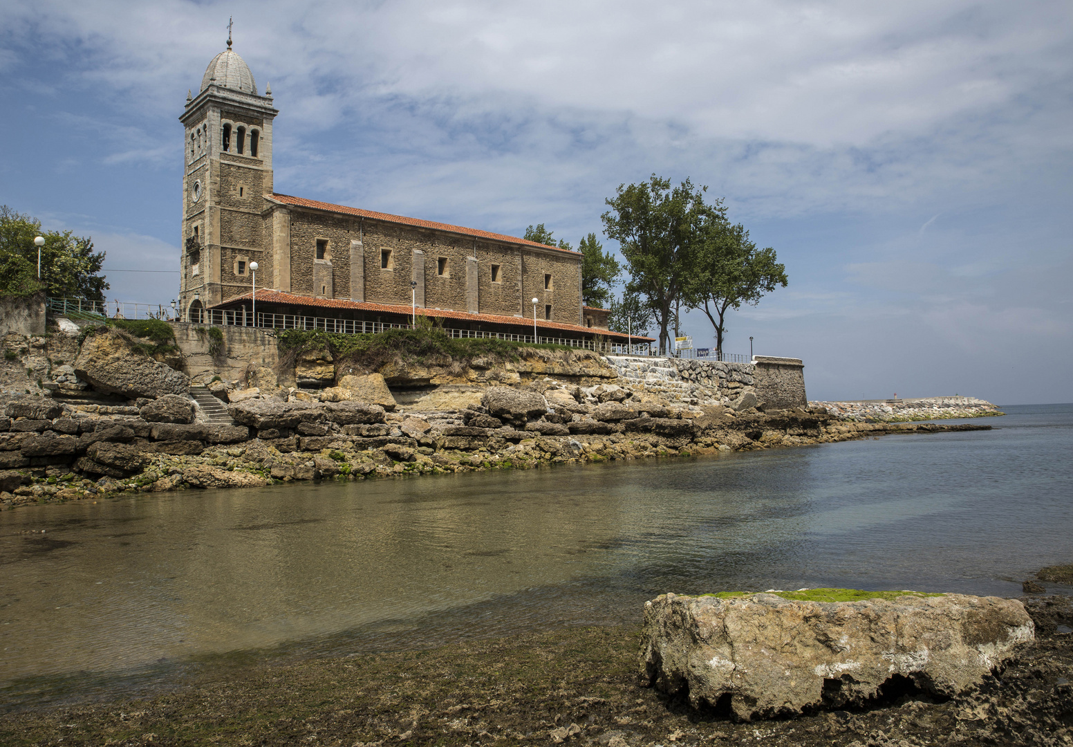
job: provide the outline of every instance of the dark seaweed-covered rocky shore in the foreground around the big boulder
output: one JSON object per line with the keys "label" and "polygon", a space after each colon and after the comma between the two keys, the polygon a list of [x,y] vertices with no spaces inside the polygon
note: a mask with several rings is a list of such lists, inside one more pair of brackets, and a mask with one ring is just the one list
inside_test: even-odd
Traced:
{"label": "dark seaweed-covered rocky shore in the foreground around the big boulder", "polygon": [[220,662],[155,697],[0,716],[10,745],[662,745],[924,747],[1073,743],[1073,605],[1024,597],[1035,641],[949,700],[736,721],[637,679],[636,626],[567,628],[427,650]]}

